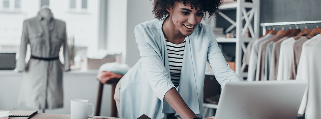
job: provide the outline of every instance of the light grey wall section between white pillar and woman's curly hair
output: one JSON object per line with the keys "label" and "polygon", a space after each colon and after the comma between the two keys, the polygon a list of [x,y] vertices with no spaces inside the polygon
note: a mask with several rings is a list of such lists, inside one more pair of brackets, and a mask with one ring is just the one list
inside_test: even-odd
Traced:
{"label": "light grey wall section between white pillar and woman's curly hair", "polygon": [[127,1],[126,64],[131,67],[141,58],[135,41],[134,28],[140,23],[155,19],[152,8],[150,0]]}

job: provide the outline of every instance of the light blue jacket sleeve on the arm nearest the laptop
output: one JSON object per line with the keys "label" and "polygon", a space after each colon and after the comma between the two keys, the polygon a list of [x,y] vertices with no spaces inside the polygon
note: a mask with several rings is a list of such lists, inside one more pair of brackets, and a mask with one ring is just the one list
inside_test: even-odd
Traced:
{"label": "light blue jacket sleeve on the arm nearest the laptop", "polygon": [[236,72],[233,71],[225,61],[221,49],[215,40],[212,27],[207,25],[205,30],[210,43],[207,51],[207,61],[214,72],[215,78],[221,84],[221,87],[223,88],[227,82],[241,81]]}

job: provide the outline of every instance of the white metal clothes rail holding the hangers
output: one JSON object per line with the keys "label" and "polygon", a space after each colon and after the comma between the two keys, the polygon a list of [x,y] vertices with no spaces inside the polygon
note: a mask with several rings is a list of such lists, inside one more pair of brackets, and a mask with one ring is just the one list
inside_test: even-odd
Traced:
{"label": "white metal clothes rail holding the hangers", "polygon": [[[260,23],[263,29],[263,35],[265,35],[266,26],[282,26],[282,25],[298,25],[298,24],[308,24],[308,23],[321,23],[321,21],[301,21],[301,22],[275,22],[275,23]],[[291,27],[291,26],[290,26]],[[298,27],[298,26],[297,26]]]}

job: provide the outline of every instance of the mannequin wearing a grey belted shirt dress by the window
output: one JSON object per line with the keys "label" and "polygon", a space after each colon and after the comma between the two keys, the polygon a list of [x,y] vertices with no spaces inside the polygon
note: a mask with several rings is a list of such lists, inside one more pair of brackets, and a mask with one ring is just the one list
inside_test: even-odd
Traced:
{"label": "mannequin wearing a grey belted shirt dress by the window", "polygon": [[[46,15],[47,14],[47,15]],[[27,45],[31,58],[25,63]],[[17,70],[23,71],[19,105],[34,109],[63,107],[63,65],[59,51],[63,46],[65,70],[70,70],[65,22],[55,19],[51,10],[23,22]]]}

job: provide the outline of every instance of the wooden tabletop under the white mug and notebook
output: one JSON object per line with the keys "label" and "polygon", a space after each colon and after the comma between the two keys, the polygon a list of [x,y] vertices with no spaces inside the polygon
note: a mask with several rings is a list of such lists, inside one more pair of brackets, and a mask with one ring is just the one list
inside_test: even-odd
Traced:
{"label": "wooden tabletop under the white mug and notebook", "polygon": [[[70,119],[70,115],[68,115],[68,114],[38,113],[38,114],[32,116],[30,119]],[[88,119],[120,119],[120,118],[105,117],[105,116],[94,116],[94,117],[88,118]]]}

